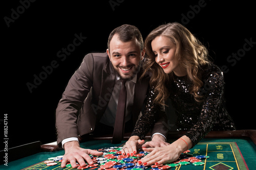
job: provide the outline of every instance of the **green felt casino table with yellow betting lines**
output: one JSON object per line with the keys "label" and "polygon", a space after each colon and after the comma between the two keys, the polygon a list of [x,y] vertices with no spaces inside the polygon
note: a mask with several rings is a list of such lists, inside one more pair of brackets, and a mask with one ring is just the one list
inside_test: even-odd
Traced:
{"label": "green felt casino table with yellow betting lines", "polygon": [[[168,142],[172,142],[182,136],[185,132],[170,132]],[[124,139],[129,138],[126,136]],[[147,139],[150,136],[146,137]],[[96,137],[93,140],[80,143],[81,148],[101,149],[110,147],[122,147],[126,140],[119,144],[112,144],[110,137]],[[256,130],[238,131],[212,131],[209,132],[194,148],[189,149],[190,156],[206,155],[208,159],[203,159],[204,165],[194,166],[193,164],[179,165],[170,169],[256,169]],[[31,147],[26,148],[26,147]],[[27,145],[27,151],[34,150],[33,145]],[[52,144],[39,146],[41,151],[24,158],[9,161],[8,166],[2,164],[0,169],[72,169],[72,167],[61,168],[60,162],[54,166],[47,166],[44,163],[48,158],[64,155],[64,150],[53,149]],[[55,146],[56,147],[56,146]],[[32,149],[33,148],[33,149]],[[22,150],[16,150],[17,155],[23,155]],[[87,169],[98,169],[89,167]],[[148,167],[147,169],[151,169]]]}

